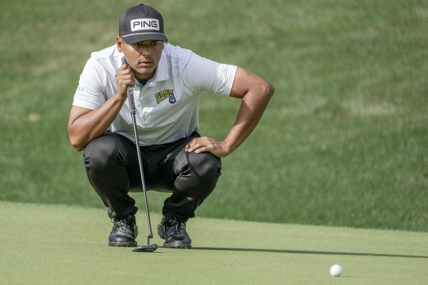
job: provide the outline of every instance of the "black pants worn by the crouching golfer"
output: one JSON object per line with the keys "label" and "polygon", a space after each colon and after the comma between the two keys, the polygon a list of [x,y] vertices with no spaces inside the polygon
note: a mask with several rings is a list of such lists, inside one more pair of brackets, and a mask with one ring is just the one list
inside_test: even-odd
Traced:
{"label": "black pants worn by the crouching golfer", "polygon": [[[165,217],[183,222],[195,217],[195,209],[213,192],[220,176],[220,157],[185,152],[185,145],[199,136],[195,132],[176,142],[140,147],[147,189],[172,192],[163,204]],[[107,132],[89,142],[83,156],[88,179],[109,208],[109,216],[135,214],[135,200],[128,192],[142,190],[136,145]]]}

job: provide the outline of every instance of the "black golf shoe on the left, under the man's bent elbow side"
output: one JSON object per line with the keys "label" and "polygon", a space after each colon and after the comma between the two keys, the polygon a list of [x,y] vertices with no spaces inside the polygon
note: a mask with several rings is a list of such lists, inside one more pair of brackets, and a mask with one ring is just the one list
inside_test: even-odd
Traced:
{"label": "black golf shoe on the left, under the man's bent elbow side", "polygon": [[108,245],[111,247],[136,247],[138,227],[136,217],[129,215],[113,219],[113,229],[108,237]]}

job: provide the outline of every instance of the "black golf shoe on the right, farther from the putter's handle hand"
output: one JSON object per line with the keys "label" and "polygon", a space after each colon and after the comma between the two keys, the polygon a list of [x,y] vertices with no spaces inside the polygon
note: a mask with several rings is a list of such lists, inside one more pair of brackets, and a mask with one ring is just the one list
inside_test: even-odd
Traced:
{"label": "black golf shoe on the right, farther from the putter's handle hand", "polygon": [[185,231],[185,222],[180,222],[175,217],[163,217],[158,225],[158,234],[165,239],[163,247],[175,249],[190,249],[192,240]]}

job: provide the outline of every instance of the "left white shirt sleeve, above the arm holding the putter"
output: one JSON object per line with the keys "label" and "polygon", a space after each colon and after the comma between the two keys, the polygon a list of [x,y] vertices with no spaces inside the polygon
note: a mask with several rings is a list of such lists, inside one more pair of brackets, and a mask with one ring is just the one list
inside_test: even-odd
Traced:
{"label": "left white shirt sleeve, above the arm holding the putter", "polygon": [[89,58],[78,81],[74,93],[73,105],[95,110],[106,102],[105,83],[102,76],[103,68],[96,58]]}

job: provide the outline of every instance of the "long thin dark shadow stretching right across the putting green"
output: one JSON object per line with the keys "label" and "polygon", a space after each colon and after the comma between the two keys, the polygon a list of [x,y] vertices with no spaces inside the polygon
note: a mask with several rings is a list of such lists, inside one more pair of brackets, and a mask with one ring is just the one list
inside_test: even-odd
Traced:
{"label": "long thin dark shadow stretching right across the putting green", "polygon": [[305,250],[290,250],[290,249],[240,249],[234,247],[192,247],[196,250],[218,250],[225,252],[273,252],[280,254],[325,254],[325,255],[354,255],[362,257],[405,257],[405,258],[420,258],[428,259],[423,255],[405,255],[405,254],[369,254],[362,252],[314,252]]}

